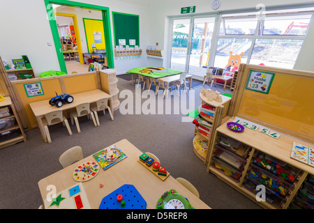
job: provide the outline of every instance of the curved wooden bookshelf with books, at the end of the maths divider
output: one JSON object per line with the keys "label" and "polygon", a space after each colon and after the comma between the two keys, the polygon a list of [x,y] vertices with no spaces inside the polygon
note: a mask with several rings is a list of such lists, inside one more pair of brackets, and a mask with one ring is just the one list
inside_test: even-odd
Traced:
{"label": "curved wooden bookshelf with books, at the end of the maths divider", "polygon": [[[200,158],[205,164],[208,162],[208,155],[209,155],[209,148],[211,148],[211,144],[213,141],[212,134],[216,131],[216,128],[218,128],[221,123],[224,123],[225,120],[227,120],[227,111],[230,106],[230,100],[231,98],[226,97],[224,95],[221,95],[223,101],[222,102],[216,102],[215,100],[209,101],[202,93],[200,93],[200,98],[202,99],[202,105],[198,108],[198,112],[200,114],[200,117],[204,119],[206,122],[205,125],[200,124],[198,122],[195,125],[195,137],[193,138],[193,151],[197,157]],[[209,113],[212,113],[213,115],[207,115],[203,113],[202,109],[203,107],[211,107],[211,110]],[[196,120],[196,119],[195,119]],[[208,134],[209,132],[209,134]],[[203,140],[204,139],[204,140]],[[202,141],[205,142],[205,145],[207,145],[207,149],[202,149],[200,146],[197,146],[197,143]]]}

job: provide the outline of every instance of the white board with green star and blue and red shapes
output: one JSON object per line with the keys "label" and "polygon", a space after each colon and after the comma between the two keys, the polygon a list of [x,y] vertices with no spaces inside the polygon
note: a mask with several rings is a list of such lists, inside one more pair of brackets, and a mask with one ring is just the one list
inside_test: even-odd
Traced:
{"label": "white board with green star and blue and red shapes", "polygon": [[45,199],[45,209],[91,209],[82,183],[77,183],[56,194],[50,201]]}

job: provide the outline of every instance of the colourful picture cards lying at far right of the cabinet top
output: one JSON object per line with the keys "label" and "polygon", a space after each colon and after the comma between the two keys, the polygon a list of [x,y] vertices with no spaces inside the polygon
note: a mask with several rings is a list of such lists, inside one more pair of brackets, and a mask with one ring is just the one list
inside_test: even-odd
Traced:
{"label": "colourful picture cards lying at far right of the cabinet top", "polygon": [[304,162],[305,164],[314,167],[314,148],[304,146],[294,141],[291,157],[294,160]]}

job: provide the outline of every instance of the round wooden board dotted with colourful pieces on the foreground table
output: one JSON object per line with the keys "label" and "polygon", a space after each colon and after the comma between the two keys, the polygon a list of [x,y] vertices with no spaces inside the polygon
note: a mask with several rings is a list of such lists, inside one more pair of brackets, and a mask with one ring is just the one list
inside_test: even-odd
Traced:
{"label": "round wooden board dotted with colourful pieces on the foreground table", "polygon": [[84,182],[94,178],[98,174],[99,169],[97,162],[84,162],[74,169],[72,176],[74,180]]}

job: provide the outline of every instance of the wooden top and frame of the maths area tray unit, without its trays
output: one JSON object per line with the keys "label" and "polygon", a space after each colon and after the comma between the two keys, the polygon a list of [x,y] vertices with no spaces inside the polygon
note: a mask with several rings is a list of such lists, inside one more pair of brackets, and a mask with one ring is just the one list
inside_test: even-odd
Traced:
{"label": "wooden top and frame of the maths area tray unit, without its trays", "polygon": [[[227,122],[234,121],[234,117],[230,118]],[[237,141],[239,144],[243,144],[249,146],[251,148],[250,153],[246,157],[245,164],[243,169],[241,169],[241,176],[234,180],[226,171],[221,171],[215,167],[216,164],[216,152],[217,152],[217,145],[220,144],[221,136],[229,137],[233,141]],[[261,132],[251,130],[245,128],[244,132],[234,132],[227,128],[227,125],[221,125],[219,128],[216,129],[214,134],[214,143],[211,146],[211,153],[209,155],[209,163],[207,166],[207,171],[215,174],[223,180],[228,185],[234,187],[234,189],[238,190],[242,194],[246,195],[246,197],[250,198],[251,200],[255,201],[256,203],[260,204],[263,208],[272,208],[272,209],[285,209],[287,208],[294,196],[297,194],[299,188],[301,187],[304,179],[309,174],[314,174],[314,168],[310,167],[306,164],[298,162],[297,160],[292,160],[290,158],[291,153],[291,145],[294,141],[299,142],[300,144],[304,144],[306,146],[310,146],[311,144],[306,144],[304,141],[300,139],[296,139],[294,137],[287,136],[282,134],[279,139],[273,139],[269,137],[267,134],[262,134]],[[276,150],[274,150],[276,148]],[[283,180],[282,178],[278,178],[275,176],[274,173],[271,171],[259,167],[255,159],[257,158],[258,154],[266,154],[270,157],[274,157],[278,159],[278,163],[285,163],[287,166],[292,167],[294,172],[297,172],[297,176],[295,176],[292,182],[288,182],[289,180]],[[224,163],[225,164],[225,163]],[[227,164],[225,164],[227,165]],[[230,165],[227,167],[232,169]],[[274,189],[270,188],[266,183],[264,186],[267,188],[269,194],[276,193],[276,198],[278,198],[281,202],[277,201],[277,205],[274,205],[269,202],[257,202],[255,193],[251,190],[248,190],[247,184],[248,180],[254,181],[254,178],[251,177],[251,174],[257,174],[257,172],[261,172],[261,176],[265,179],[265,181],[271,181],[273,183],[285,183],[287,185],[285,192],[281,193],[275,191]],[[271,178],[271,180],[269,180]],[[255,179],[256,180],[256,179]],[[260,185],[263,185],[261,182],[257,182]],[[257,185],[258,185],[257,184]]]}

